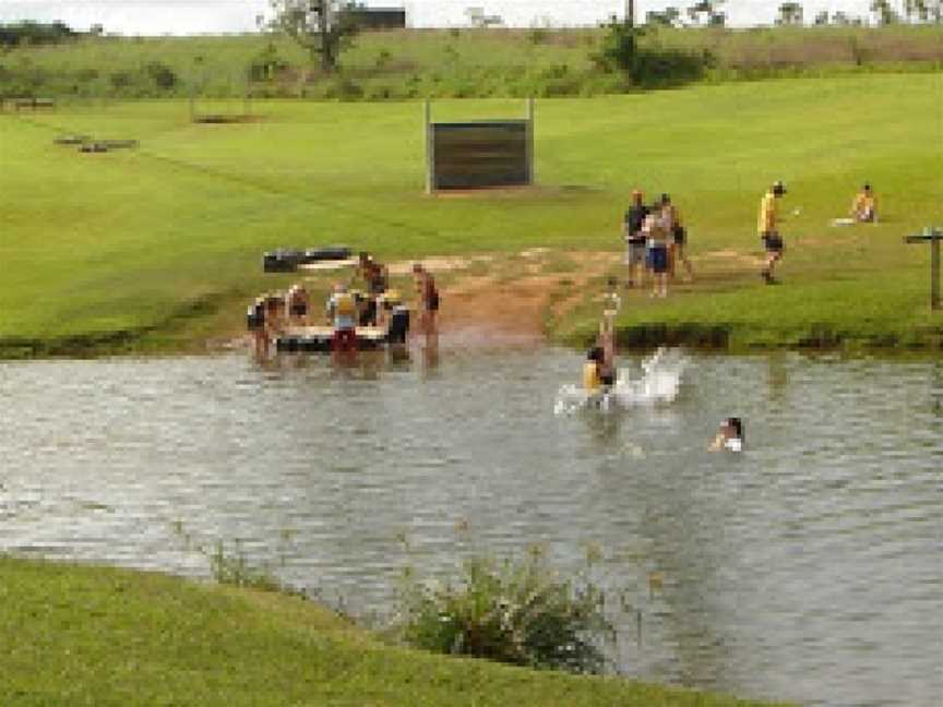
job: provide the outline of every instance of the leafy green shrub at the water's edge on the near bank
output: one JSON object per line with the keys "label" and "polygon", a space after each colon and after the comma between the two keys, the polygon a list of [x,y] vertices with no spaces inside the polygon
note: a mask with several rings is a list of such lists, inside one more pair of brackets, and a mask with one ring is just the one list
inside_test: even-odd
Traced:
{"label": "leafy green shrub at the water's edge on the near bank", "polygon": [[601,589],[559,578],[536,550],[518,562],[469,560],[454,585],[407,573],[401,604],[406,643],[515,666],[599,673],[614,639]]}

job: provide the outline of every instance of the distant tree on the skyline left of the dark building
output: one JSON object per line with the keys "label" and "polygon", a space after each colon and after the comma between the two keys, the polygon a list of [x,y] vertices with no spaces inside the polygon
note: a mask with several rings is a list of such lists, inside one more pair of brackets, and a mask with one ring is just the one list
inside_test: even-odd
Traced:
{"label": "distant tree on the skyline left of the dark building", "polygon": [[339,68],[341,52],[358,32],[353,2],[338,0],[268,0],[273,17],[267,27],[284,32],[303,47],[311,63],[325,72]]}

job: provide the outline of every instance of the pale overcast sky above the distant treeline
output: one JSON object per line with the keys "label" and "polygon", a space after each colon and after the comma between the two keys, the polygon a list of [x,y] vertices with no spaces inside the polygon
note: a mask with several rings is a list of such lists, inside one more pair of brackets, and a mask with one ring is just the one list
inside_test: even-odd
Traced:
{"label": "pale overcast sky above the distant treeline", "polygon": [[[783,0],[728,0],[728,24],[768,24]],[[801,0],[799,0],[801,2]],[[899,5],[903,0],[892,0]],[[685,8],[694,0],[636,0],[640,19],[653,9]],[[533,26],[594,25],[612,13],[621,15],[624,0],[366,0],[374,7],[404,7],[413,27],[467,24],[465,10],[481,8],[500,15],[505,24]],[[807,0],[805,21],[820,10],[841,10],[868,16],[869,0]],[[121,34],[200,34],[251,32],[267,0],[0,0],[0,23],[19,20],[61,20],[76,29],[102,24]]]}

